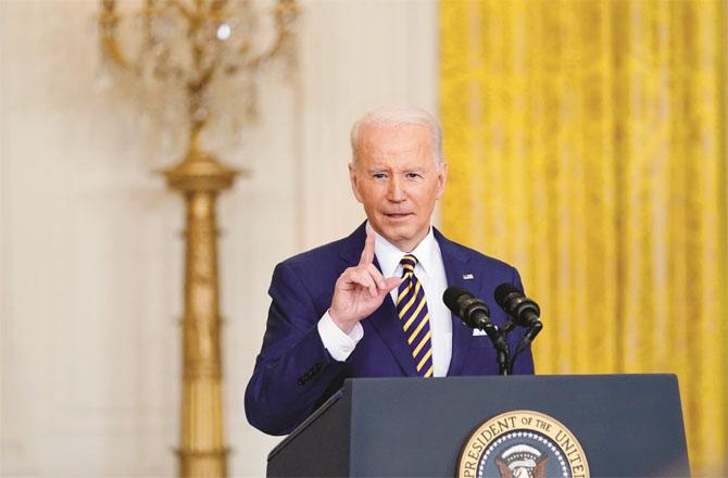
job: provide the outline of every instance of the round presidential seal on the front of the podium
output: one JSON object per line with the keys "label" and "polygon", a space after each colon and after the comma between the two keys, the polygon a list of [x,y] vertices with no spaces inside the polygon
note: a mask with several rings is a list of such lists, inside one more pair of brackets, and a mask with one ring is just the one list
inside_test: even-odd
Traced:
{"label": "round presidential seal on the front of the podium", "polygon": [[542,413],[518,410],[486,420],[461,450],[460,478],[589,478],[576,437]]}

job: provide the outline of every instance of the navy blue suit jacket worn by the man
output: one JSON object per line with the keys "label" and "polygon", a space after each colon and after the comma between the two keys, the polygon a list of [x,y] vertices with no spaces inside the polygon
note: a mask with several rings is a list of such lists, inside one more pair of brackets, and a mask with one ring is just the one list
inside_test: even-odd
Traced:
{"label": "navy blue suit jacket worn by the man", "polygon": [[[510,265],[445,239],[437,229],[448,286],[484,299],[491,319],[500,325],[505,313],[495,305],[493,290],[502,282],[523,289]],[[334,285],[343,271],[359,264],[366,230],[296,255],[278,264],[268,293],[273,299],[261,353],[246,390],[246,415],[255,428],[285,435],[303,422],[350,377],[417,376],[401,324],[389,295],[362,320],[364,338],[346,362],[332,358],[316,327],[331,304]],[[375,265],[379,265],[375,261]],[[465,277],[468,277],[466,279]],[[472,277],[472,278],[469,278]],[[428,301],[442,298],[427,298]],[[522,329],[511,332],[515,350]],[[530,350],[517,360],[514,374],[532,374]],[[448,376],[497,375],[495,351],[486,336],[473,336],[452,316],[452,358]]]}

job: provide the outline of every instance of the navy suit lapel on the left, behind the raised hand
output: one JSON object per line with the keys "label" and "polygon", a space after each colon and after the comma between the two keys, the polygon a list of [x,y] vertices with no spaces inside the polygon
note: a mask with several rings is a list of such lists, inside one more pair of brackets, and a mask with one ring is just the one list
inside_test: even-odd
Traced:
{"label": "navy suit lapel on the left, behind the raised hand", "polygon": [[[342,250],[341,257],[350,265],[359,264],[366,240],[366,223],[362,224],[350,237],[348,247]],[[381,272],[379,261],[374,259],[374,265]],[[387,294],[384,303],[368,318],[364,320],[372,325],[372,328],[381,337],[387,348],[390,350],[404,374],[409,377],[416,377],[414,360],[410,347],[404,340],[404,332],[400,320],[397,318],[397,310],[392,298]],[[364,339],[366,340],[366,339]]]}

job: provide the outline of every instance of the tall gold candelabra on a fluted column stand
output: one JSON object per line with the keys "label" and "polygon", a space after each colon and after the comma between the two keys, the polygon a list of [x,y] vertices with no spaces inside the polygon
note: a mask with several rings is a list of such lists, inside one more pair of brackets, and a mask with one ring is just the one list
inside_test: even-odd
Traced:
{"label": "tall gold candelabra on a fluted column stand", "polygon": [[237,129],[253,120],[259,73],[276,63],[293,65],[298,5],[268,3],[267,16],[249,0],[146,0],[123,14],[114,0],[102,0],[98,18],[102,60],[114,81],[131,85],[148,111],[187,133],[186,154],[162,172],[187,207],[177,450],[185,477],[226,476],[228,454],[215,203],[240,172],[205,152],[202,134],[224,121]]}

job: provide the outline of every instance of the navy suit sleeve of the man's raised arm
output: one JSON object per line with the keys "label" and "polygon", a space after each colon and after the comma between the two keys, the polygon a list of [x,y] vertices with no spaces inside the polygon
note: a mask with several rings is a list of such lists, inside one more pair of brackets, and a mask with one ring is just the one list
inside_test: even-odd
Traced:
{"label": "navy suit sleeve of the man's raised arm", "polygon": [[293,268],[276,266],[268,290],[268,310],[261,353],[246,389],[248,422],[269,435],[286,435],[303,422],[343,372],[322,342],[317,311]]}

